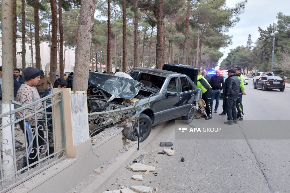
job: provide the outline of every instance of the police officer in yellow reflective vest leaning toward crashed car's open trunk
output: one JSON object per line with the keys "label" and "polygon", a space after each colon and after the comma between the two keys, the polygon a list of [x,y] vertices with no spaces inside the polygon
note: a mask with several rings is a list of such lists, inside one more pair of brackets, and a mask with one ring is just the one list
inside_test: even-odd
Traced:
{"label": "police officer in yellow reflective vest leaning toward crashed car's open trunk", "polygon": [[205,112],[206,115],[202,115],[202,117],[206,117],[206,120],[211,119],[211,85],[207,80],[200,74],[200,70],[198,70],[197,75],[197,84],[196,87],[199,87],[202,89],[202,99],[204,100],[206,106],[205,106]]}

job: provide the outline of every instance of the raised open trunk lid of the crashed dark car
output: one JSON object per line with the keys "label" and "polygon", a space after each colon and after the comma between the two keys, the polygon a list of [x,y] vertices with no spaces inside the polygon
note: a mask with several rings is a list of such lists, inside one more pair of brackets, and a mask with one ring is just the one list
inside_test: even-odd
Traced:
{"label": "raised open trunk lid of the crashed dark car", "polygon": [[198,69],[195,66],[184,64],[164,64],[163,70],[185,74],[189,76],[189,78],[191,78],[191,80],[194,82],[195,85],[197,83]]}

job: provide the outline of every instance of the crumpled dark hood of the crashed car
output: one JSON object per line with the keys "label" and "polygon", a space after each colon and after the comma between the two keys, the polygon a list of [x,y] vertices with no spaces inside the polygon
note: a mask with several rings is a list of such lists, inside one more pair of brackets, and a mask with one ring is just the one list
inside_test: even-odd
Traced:
{"label": "crumpled dark hood of the crashed car", "polygon": [[143,87],[143,84],[137,80],[97,72],[89,73],[88,84],[112,95],[106,100],[107,102],[114,98],[132,99]]}

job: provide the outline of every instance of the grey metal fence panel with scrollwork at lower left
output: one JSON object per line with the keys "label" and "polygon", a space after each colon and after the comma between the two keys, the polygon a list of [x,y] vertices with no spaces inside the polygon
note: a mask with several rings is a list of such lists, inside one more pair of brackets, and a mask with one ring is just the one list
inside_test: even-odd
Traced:
{"label": "grey metal fence panel with scrollwork at lower left", "polygon": [[[0,192],[10,190],[65,157],[62,99],[62,91],[57,91],[24,106],[12,100],[10,112],[0,115]],[[16,105],[18,108],[14,109]],[[55,117],[56,114],[60,117]],[[58,139],[60,143],[56,142]]]}

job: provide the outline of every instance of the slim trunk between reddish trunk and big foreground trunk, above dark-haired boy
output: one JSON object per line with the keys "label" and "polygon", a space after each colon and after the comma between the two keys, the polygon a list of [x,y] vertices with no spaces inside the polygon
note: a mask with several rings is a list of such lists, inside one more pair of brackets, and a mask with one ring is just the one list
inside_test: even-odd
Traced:
{"label": "slim trunk between reddish trunk and big foreground trunk, above dark-haired boy", "polygon": [[58,0],[58,20],[59,20],[59,73],[60,78],[64,78],[64,28],[62,26],[62,0]]}

